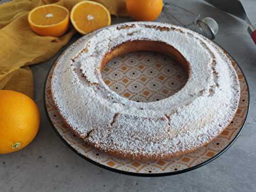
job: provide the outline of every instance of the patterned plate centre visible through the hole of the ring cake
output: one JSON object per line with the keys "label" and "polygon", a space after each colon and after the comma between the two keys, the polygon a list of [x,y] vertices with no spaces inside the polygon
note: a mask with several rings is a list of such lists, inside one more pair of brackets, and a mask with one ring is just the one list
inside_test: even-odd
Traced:
{"label": "patterned plate centre visible through the hole of the ring cake", "polygon": [[152,52],[126,53],[103,67],[112,91],[137,102],[158,101],[181,90],[188,75],[172,58]]}

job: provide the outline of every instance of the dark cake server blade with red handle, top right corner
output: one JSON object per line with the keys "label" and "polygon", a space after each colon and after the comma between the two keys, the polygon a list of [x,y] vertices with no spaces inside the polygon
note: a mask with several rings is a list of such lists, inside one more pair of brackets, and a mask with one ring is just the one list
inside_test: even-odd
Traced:
{"label": "dark cake server blade with red handle, top right corner", "polygon": [[249,25],[247,28],[252,40],[256,44],[256,24],[251,24],[242,3],[239,0],[204,0],[207,3],[231,14],[239,17]]}

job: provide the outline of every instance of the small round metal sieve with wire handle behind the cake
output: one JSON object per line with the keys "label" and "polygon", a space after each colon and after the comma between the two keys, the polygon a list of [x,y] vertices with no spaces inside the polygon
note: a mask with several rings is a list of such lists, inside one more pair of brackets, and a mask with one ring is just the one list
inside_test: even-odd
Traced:
{"label": "small round metal sieve with wire handle behind the cake", "polygon": [[177,7],[187,13],[190,13],[191,15],[195,16],[195,19],[193,20],[192,23],[189,23],[189,24],[184,24],[181,22],[180,19],[178,19],[177,17],[175,17],[171,12],[168,12],[167,14],[171,17],[173,17],[176,22],[178,22],[182,27],[190,27],[190,26],[196,26],[197,29],[200,30],[200,32],[208,37],[209,39],[214,39],[215,38],[215,35],[217,34],[218,30],[219,30],[219,26],[218,26],[218,23],[216,22],[216,20],[214,20],[213,18],[211,17],[205,17],[203,19],[200,19],[200,14],[195,14],[191,11],[188,11],[178,5],[175,5],[173,3],[170,3],[170,2],[166,2],[164,3],[164,6],[163,8],[164,9],[167,9],[169,7]]}

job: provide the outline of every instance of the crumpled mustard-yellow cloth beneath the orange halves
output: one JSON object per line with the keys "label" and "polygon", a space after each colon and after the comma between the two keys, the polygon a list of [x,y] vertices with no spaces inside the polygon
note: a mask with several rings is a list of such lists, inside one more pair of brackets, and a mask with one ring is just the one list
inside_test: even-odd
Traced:
{"label": "crumpled mustard-yellow cloth beneath the orange halves", "polygon": [[[0,90],[14,90],[33,98],[33,74],[28,67],[53,57],[75,33],[73,27],[62,37],[42,37],[28,24],[33,8],[56,3],[69,10],[81,0],[14,0],[0,4]],[[94,0],[111,14],[125,16],[125,0]]]}

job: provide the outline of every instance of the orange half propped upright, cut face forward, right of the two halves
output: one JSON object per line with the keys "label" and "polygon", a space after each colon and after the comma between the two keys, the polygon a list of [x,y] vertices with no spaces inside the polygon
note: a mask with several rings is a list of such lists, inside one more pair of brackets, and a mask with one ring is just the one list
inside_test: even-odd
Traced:
{"label": "orange half propped upright, cut face forward, right of the two halves", "polygon": [[92,1],[76,4],[71,10],[70,19],[74,28],[81,34],[90,33],[111,24],[109,10]]}

